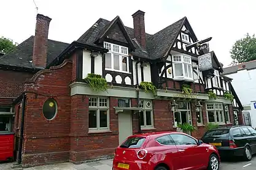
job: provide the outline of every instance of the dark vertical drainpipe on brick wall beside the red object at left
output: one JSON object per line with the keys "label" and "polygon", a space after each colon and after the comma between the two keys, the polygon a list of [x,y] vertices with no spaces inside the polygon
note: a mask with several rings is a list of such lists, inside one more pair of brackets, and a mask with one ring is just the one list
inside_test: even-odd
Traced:
{"label": "dark vertical drainpipe on brick wall beside the red object at left", "polygon": [[21,156],[22,156],[22,144],[23,144],[23,132],[24,132],[25,105],[26,105],[26,95],[23,94],[21,125],[20,125],[20,142],[18,144],[18,164],[21,164],[21,159],[22,159]]}

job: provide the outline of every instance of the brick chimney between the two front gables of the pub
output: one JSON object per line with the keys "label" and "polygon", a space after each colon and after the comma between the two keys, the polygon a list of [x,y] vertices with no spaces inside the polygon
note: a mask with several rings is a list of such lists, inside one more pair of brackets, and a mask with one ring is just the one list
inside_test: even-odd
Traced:
{"label": "brick chimney between the two front gables of the pub", "polygon": [[141,10],[133,13],[133,28],[134,28],[134,37],[138,40],[139,44],[145,48],[145,22],[144,22],[144,13]]}

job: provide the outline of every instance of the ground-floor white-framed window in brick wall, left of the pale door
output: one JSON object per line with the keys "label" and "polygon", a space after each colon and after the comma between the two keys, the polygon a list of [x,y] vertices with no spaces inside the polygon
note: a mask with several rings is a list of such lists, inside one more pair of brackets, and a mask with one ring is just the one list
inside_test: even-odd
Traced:
{"label": "ground-floor white-framed window in brick wall, left of the pale door", "polygon": [[109,100],[103,97],[89,98],[89,130],[109,129]]}

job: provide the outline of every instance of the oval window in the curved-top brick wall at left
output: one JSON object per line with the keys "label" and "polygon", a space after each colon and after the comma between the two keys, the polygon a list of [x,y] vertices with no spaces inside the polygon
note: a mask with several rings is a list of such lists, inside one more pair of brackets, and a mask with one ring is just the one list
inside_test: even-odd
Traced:
{"label": "oval window in the curved-top brick wall at left", "polygon": [[52,120],[57,114],[57,103],[52,98],[44,102],[43,114],[45,119]]}

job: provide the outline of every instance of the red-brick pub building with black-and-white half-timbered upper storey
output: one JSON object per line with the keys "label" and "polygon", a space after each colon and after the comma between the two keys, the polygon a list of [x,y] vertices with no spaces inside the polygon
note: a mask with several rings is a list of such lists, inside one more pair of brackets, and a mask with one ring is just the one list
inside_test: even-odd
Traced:
{"label": "red-brick pub building with black-and-white half-timbered upper storey", "polygon": [[[42,16],[37,24],[48,32],[42,23],[50,20]],[[132,17],[134,28],[118,16],[99,18],[27,79],[13,103],[18,163],[108,158],[130,135],[176,131],[179,123],[196,127],[191,135],[198,139],[209,122],[243,124],[232,79],[222,76],[222,65],[209,51],[211,38],[198,40],[187,17],[155,34],[145,33],[144,12]]]}

